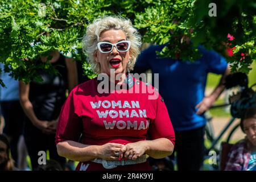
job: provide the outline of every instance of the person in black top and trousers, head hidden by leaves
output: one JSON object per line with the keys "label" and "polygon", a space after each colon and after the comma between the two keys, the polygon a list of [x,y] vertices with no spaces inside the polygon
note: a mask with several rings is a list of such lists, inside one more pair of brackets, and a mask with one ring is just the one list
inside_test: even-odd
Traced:
{"label": "person in black top and trousers, head hidden by leaves", "polygon": [[[29,84],[19,82],[20,104],[26,114],[24,138],[32,169],[38,167],[39,151],[49,151],[49,157],[64,168],[65,158],[57,154],[55,132],[59,113],[66,100],[66,91],[77,85],[76,62],[64,57],[59,51],[51,53],[49,63],[59,72],[46,73],[39,70],[42,82],[31,81]],[[47,61],[41,56],[38,61]]]}

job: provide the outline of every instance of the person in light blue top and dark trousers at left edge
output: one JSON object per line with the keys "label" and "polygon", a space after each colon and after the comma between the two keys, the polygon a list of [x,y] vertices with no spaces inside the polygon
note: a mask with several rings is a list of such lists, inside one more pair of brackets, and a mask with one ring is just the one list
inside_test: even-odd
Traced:
{"label": "person in light blue top and dark trousers at left edge", "polygon": [[[26,168],[26,146],[23,134],[24,113],[19,102],[19,81],[4,72],[1,63],[0,78],[5,87],[0,86],[0,105],[5,120],[3,134],[10,140],[11,156],[15,161],[16,168]],[[20,161],[20,163],[19,163]],[[21,164],[22,163],[22,164]]]}

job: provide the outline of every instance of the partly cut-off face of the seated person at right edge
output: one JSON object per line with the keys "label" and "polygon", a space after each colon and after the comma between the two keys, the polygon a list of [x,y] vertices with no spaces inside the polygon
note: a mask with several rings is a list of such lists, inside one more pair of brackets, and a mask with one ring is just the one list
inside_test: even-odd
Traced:
{"label": "partly cut-off face of the seated person at right edge", "polygon": [[247,118],[243,121],[243,130],[247,139],[256,146],[256,118]]}

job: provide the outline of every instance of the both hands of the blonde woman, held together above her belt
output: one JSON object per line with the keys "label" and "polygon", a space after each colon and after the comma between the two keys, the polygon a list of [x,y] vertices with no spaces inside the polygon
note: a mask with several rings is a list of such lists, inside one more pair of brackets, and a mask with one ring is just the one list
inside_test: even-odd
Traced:
{"label": "both hands of the blonde woman, held together above her belt", "polygon": [[98,156],[105,160],[136,160],[147,150],[146,140],[127,144],[106,143],[100,146]]}

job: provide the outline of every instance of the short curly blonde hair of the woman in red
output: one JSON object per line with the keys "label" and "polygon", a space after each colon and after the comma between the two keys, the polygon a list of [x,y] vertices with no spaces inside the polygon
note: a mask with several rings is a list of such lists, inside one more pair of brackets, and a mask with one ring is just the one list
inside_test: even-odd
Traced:
{"label": "short curly blonde hair of the woman in red", "polygon": [[126,39],[131,42],[130,47],[130,63],[127,69],[133,70],[135,61],[139,55],[141,48],[141,35],[138,30],[133,27],[129,19],[121,16],[104,16],[94,20],[86,28],[86,34],[82,39],[82,49],[87,56],[87,61],[92,66],[95,73],[100,73],[100,64],[94,59],[94,54],[97,51],[97,43],[100,42],[100,35],[106,30],[122,30],[125,32]]}

